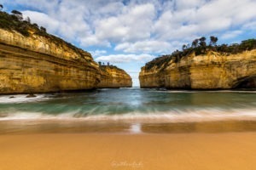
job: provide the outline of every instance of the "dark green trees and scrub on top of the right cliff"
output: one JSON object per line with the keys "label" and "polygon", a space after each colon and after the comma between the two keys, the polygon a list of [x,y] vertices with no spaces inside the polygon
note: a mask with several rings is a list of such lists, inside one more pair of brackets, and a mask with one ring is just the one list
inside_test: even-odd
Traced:
{"label": "dark green trees and scrub on top of the right cliff", "polygon": [[210,42],[207,45],[206,37],[201,37],[199,39],[195,39],[191,45],[184,44],[182,47],[182,51],[176,50],[172,54],[162,55],[157,57],[145,65],[146,70],[150,70],[154,66],[160,68],[161,65],[164,65],[163,68],[166,67],[168,62],[173,59],[174,62],[179,62],[183,57],[187,57],[190,54],[201,55],[207,54],[209,51],[218,52],[224,55],[230,54],[239,54],[246,50],[256,49],[256,39],[248,39],[242,41],[241,43],[233,43],[233,44],[222,44],[217,45],[218,37],[210,37]]}

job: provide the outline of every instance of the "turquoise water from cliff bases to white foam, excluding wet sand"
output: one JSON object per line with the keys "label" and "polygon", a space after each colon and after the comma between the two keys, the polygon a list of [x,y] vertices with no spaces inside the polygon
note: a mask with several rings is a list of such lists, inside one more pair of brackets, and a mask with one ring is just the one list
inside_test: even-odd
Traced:
{"label": "turquoise water from cliff bases to white foam, excluding wet sand", "polygon": [[[12,96],[12,98],[11,98]],[[256,118],[255,91],[97,89],[84,93],[0,96],[0,121],[41,119],[183,122]]]}

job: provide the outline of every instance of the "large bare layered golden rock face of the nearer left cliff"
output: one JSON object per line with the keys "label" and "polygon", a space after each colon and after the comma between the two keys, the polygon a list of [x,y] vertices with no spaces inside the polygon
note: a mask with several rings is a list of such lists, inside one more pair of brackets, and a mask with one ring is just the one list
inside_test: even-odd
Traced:
{"label": "large bare layered golden rock face of the nearer left cliff", "polygon": [[99,66],[64,41],[0,29],[0,94],[96,88]]}

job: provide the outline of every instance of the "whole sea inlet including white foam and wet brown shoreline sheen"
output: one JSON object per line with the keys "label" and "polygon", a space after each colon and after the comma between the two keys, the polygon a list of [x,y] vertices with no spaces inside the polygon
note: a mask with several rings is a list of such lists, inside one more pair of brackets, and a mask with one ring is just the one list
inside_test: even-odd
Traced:
{"label": "whole sea inlet including white foam and wet brown shoreline sheen", "polygon": [[36,96],[0,96],[0,133],[183,132],[206,129],[206,122],[256,130],[256,91],[116,88]]}

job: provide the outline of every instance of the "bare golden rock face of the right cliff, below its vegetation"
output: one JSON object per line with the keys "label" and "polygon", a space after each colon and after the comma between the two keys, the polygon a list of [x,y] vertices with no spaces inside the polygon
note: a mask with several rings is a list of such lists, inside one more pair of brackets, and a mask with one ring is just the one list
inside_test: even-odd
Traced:
{"label": "bare golden rock face of the right cliff, below its vegetation", "polygon": [[256,88],[256,50],[241,54],[190,54],[167,66],[142,68],[141,88],[230,89]]}

